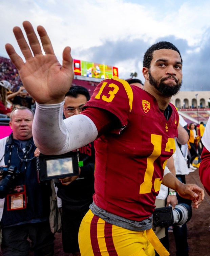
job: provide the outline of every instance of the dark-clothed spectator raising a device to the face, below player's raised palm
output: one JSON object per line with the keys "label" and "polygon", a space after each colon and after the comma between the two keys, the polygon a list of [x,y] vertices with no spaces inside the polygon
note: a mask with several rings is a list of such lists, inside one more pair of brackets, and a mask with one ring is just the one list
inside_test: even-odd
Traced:
{"label": "dark-clothed spectator raising a device to the face, below player's raised palm", "polygon": [[23,86],[21,86],[17,92],[9,94],[7,99],[9,99],[13,104],[19,104],[20,106],[27,107],[29,109],[32,109],[32,105],[35,103],[35,100],[28,96],[28,93]]}

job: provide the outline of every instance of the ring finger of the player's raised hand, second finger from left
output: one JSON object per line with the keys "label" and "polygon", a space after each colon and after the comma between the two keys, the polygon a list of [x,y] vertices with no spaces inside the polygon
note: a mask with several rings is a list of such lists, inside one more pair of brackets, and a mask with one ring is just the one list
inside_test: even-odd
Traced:
{"label": "ring finger of the player's raised hand, second finger from left", "polygon": [[23,56],[25,57],[25,59],[27,60],[27,59],[33,57],[32,52],[25,40],[22,30],[19,27],[15,27],[15,28],[13,28],[13,33],[15,35],[17,43],[18,43],[20,50],[21,50]]}

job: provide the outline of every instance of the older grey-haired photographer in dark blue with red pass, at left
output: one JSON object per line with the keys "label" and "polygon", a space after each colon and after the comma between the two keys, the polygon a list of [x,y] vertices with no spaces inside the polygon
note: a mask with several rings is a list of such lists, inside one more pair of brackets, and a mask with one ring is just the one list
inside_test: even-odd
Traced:
{"label": "older grey-haired photographer in dark blue with red pass, at left", "polygon": [[[54,236],[49,227],[50,187],[37,180],[36,146],[32,138],[34,113],[26,107],[12,111],[13,132],[0,140],[1,228],[3,255],[53,255]],[[36,156],[35,156],[36,154]]]}

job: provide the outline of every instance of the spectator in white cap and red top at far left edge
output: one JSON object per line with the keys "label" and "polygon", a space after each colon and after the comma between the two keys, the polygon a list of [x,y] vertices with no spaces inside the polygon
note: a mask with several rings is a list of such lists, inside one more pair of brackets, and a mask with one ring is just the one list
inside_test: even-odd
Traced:
{"label": "spectator in white cap and red top at far left edge", "polygon": [[10,89],[11,84],[6,81],[0,81],[0,114],[5,114],[10,116],[11,109],[9,103],[7,102],[7,92]]}

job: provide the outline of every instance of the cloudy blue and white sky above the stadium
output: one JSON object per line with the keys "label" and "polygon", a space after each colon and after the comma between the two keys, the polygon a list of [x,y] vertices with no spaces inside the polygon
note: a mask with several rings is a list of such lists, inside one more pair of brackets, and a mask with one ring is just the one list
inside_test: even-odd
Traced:
{"label": "cloudy blue and white sky above the stadium", "polygon": [[210,91],[210,1],[195,0],[1,0],[0,55],[5,43],[19,52],[12,33],[22,21],[43,25],[58,59],[72,57],[119,68],[119,77],[142,75],[147,48],[166,40],[183,58],[183,91]]}

